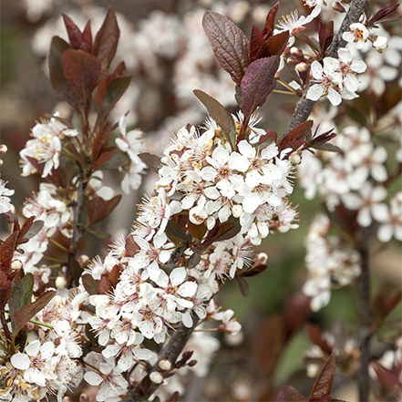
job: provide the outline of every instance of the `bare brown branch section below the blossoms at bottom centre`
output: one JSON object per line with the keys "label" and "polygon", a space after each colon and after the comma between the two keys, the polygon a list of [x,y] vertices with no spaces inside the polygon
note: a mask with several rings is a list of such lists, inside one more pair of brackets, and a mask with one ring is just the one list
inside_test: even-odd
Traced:
{"label": "bare brown branch section below the blossoms at bottom centre", "polygon": [[160,358],[158,361],[149,368],[147,376],[139,383],[137,387],[129,387],[129,392],[126,397],[124,397],[123,402],[141,402],[149,400],[149,397],[158,389],[159,384],[150,382],[150,386],[145,388],[142,386],[143,383],[149,382],[149,375],[154,371],[159,371],[163,374],[160,369],[160,360],[170,360],[172,365],[176,363],[177,358],[180,356],[184,346],[187,344],[192,332],[195,327],[199,324],[200,318],[196,315],[193,317],[193,325],[191,328],[187,328],[180,323],[179,328],[171,336],[170,341],[160,352]]}

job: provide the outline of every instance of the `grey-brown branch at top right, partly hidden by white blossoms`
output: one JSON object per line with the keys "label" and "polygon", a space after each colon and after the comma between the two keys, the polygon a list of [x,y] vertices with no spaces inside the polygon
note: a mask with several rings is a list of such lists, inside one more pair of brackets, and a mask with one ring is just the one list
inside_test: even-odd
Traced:
{"label": "grey-brown branch at top right, partly hidden by white blossoms", "polygon": [[[336,55],[340,47],[345,47],[346,42],[342,38],[342,35],[345,31],[349,29],[349,26],[351,24],[358,22],[360,16],[363,14],[363,10],[365,9],[367,2],[368,0],[352,0],[350,8],[345,15],[345,19],[341,27],[339,28],[338,33],[334,37],[331,46],[328,49],[329,56]],[[315,101],[307,99],[307,91],[308,88],[313,85],[313,81],[310,81],[309,86],[305,88],[302,98],[300,98],[297,102],[294,114],[292,116],[292,119],[289,121],[286,132],[304,123],[304,121],[306,121],[310,116],[310,113],[314,108]]]}

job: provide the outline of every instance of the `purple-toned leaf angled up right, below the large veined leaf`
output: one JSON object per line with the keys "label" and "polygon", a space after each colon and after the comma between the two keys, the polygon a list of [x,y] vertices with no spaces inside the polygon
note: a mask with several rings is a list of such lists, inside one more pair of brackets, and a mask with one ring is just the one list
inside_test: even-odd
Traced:
{"label": "purple-toned leaf angled up right, below the large veined leaf", "polygon": [[242,77],[242,111],[250,116],[262,106],[266,97],[276,87],[275,73],[279,67],[279,56],[255,60]]}

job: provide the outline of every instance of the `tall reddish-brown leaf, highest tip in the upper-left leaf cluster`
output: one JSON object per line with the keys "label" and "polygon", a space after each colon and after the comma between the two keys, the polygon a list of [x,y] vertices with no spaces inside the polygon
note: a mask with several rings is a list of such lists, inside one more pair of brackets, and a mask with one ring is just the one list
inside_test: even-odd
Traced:
{"label": "tall reddish-brown leaf, highest tip in the upper-left leaf cluster", "polygon": [[102,80],[108,74],[108,67],[116,55],[119,36],[120,30],[116,14],[111,7],[108,7],[108,13],[95,36],[94,45],[92,46],[92,54],[101,62],[99,80]]}

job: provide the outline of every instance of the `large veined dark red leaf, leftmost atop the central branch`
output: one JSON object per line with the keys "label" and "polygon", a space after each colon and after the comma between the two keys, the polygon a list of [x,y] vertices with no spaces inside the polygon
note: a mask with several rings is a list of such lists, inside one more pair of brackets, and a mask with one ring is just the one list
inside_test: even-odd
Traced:
{"label": "large veined dark red leaf, leftmost atop the central branch", "polygon": [[222,68],[240,86],[249,65],[249,40],[231,20],[213,11],[204,14],[202,27]]}

